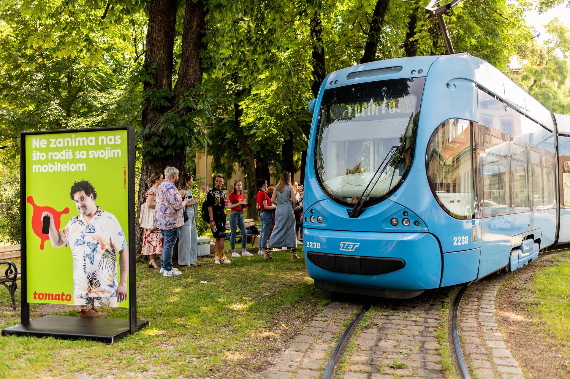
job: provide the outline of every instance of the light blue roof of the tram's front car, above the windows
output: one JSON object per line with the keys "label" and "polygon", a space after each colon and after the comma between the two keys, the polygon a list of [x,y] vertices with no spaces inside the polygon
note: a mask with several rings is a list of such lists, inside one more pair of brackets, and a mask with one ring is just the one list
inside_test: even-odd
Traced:
{"label": "light blue roof of the tram's front car, above the windows", "polygon": [[[490,63],[466,53],[410,56],[378,60],[342,68],[341,70],[331,72],[324,83],[324,89],[376,80],[426,77],[433,65],[440,64],[454,67],[454,71],[457,71],[459,67],[462,75],[461,79],[477,84],[485,91],[504,100],[511,107],[518,109],[531,117],[531,119],[544,125],[550,131],[554,130],[552,115],[544,105],[540,104],[538,100],[525,92]],[[449,78],[446,78],[446,80],[449,80]]]}

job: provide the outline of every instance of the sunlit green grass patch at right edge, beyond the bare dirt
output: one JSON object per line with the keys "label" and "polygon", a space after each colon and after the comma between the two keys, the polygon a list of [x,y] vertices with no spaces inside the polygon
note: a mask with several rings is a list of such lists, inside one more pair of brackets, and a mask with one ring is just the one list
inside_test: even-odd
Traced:
{"label": "sunlit green grass patch at right edge, beyond the bare dirt", "polygon": [[[533,311],[547,325],[549,335],[559,343],[570,341],[570,252],[560,254],[561,260],[545,267],[534,276],[532,287],[536,299]],[[567,354],[570,355],[570,354]]]}

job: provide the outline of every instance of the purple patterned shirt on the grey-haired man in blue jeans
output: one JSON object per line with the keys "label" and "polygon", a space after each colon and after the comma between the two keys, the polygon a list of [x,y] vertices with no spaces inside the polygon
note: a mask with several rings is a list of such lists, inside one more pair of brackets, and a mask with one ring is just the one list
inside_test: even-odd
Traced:
{"label": "purple patterned shirt on the grey-haired man in blue jeans", "polygon": [[165,179],[156,189],[156,207],[154,211],[158,229],[168,230],[184,225],[182,197],[174,184],[168,179]]}

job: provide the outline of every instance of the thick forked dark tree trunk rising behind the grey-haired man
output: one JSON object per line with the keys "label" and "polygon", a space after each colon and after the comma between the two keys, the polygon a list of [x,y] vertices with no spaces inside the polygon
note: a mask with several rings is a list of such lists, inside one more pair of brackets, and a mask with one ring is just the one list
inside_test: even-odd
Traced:
{"label": "thick forked dark tree trunk rising behind the grey-haired man", "polygon": [[[174,0],[154,0],[150,2],[148,32],[146,34],[146,54],[145,67],[153,67],[154,72],[150,74],[153,83],[145,81],[145,91],[157,91],[166,89],[172,91],[173,76],[173,50],[176,27],[176,1]],[[206,11],[201,0],[196,3],[186,1],[184,15],[184,28],[182,32],[182,52],[180,68],[174,95],[169,99],[168,107],[151,107],[150,101],[145,100],[143,107],[143,128],[145,134],[143,142],[146,143],[151,137],[157,135],[150,128],[157,125],[160,117],[166,112],[174,111],[181,117],[187,115],[192,108],[180,106],[178,100],[197,84],[202,83],[202,67],[200,51],[205,49],[202,42],[201,33],[206,30]],[[196,93],[194,96],[198,96]],[[197,101],[196,101],[197,103]],[[158,135],[160,137],[160,129]],[[143,157],[141,167],[141,177],[139,186],[138,206],[144,202],[144,193],[149,188],[148,178],[153,172],[163,172],[166,166],[176,167],[181,172],[186,168],[186,148],[169,156]],[[140,251],[143,241],[143,230],[137,228],[136,247]],[[177,260],[177,251],[173,254],[173,260]]]}

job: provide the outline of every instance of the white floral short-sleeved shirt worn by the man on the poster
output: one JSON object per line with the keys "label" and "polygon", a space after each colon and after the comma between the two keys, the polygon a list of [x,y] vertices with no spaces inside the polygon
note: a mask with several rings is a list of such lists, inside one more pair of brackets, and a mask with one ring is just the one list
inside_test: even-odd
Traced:
{"label": "white floral short-sleeved shirt worn by the man on the poster", "polygon": [[71,248],[74,303],[82,298],[116,297],[119,284],[117,252],[127,247],[117,218],[97,207],[89,223],[82,214],[72,217],[59,232],[59,237]]}

